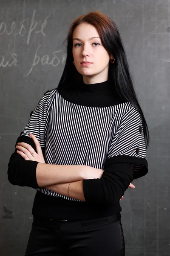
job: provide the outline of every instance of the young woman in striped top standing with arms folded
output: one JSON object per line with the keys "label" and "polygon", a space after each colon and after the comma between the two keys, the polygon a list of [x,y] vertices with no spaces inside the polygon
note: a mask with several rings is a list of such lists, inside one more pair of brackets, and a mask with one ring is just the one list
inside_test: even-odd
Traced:
{"label": "young woman in striped top standing with arms folded", "polygon": [[57,89],[47,91],[8,164],[37,189],[25,255],[122,256],[120,198],[147,174],[149,133],[115,23],[91,12],[72,23]]}

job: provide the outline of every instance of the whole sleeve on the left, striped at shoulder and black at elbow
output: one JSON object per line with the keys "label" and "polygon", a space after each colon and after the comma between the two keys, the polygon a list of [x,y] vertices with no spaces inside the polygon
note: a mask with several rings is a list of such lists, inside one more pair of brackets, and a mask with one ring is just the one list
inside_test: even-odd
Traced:
{"label": "whole sleeve on the left, striped at shoulder and black at elbow", "polygon": [[[35,143],[29,136],[30,133],[37,137],[40,142],[42,153],[45,151],[46,142],[46,132],[49,123],[49,114],[51,110],[51,105],[53,104],[55,97],[55,91],[47,91],[44,96],[38,102],[34,111],[32,111],[30,119],[20,137],[17,138],[17,142],[25,142],[30,144],[36,151]],[[26,161],[17,154],[17,149],[9,159],[8,163],[8,180],[13,185],[18,186],[29,186],[34,188],[39,188],[36,179],[36,168],[38,162],[36,161]]]}

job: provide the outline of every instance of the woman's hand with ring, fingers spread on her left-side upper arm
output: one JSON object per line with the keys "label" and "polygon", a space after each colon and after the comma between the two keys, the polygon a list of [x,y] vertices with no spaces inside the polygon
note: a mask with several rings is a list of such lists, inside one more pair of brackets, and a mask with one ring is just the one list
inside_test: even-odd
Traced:
{"label": "woman's hand with ring, fingers spread on her left-side upper arm", "polygon": [[16,148],[19,149],[17,150],[17,153],[20,154],[20,156],[23,157],[25,160],[45,163],[39,141],[37,140],[34,134],[30,133],[29,135],[35,143],[37,153],[36,151],[34,151],[34,148],[32,148],[31,145],[25,142],[17,143]]}

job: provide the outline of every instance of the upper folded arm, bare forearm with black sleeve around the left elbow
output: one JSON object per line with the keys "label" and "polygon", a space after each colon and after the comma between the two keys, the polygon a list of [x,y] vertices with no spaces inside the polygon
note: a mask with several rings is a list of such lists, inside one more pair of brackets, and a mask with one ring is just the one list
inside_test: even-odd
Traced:
{"label": "upper folded arm, bare forearm with black sleeve around the left elbow", "polygon": [[[18,142],[25,142],[34,148],[34,141],[28,136],[20,136]],[[44,154],[45,149],[42,148]],[[34,188],[52,186],[58,183],[74,182],[85,178],[98,177],[99,170],[84,165],[54,165],[24,160],[17,150],[11,155],[8,163],[8,180],[13,185]]]}

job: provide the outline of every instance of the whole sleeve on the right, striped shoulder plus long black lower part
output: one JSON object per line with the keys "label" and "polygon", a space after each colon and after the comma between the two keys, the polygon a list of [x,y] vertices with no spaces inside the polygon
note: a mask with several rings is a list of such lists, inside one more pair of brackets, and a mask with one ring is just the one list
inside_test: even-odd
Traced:
{"label": "whole sleeve on the right, striped shoulder plus long black lower part", "polygon": [[88,203],[118,203],[130,182],[148,172],[142,119],[136,108],[120,109],[114,129],[102,177],[83,180]]}

